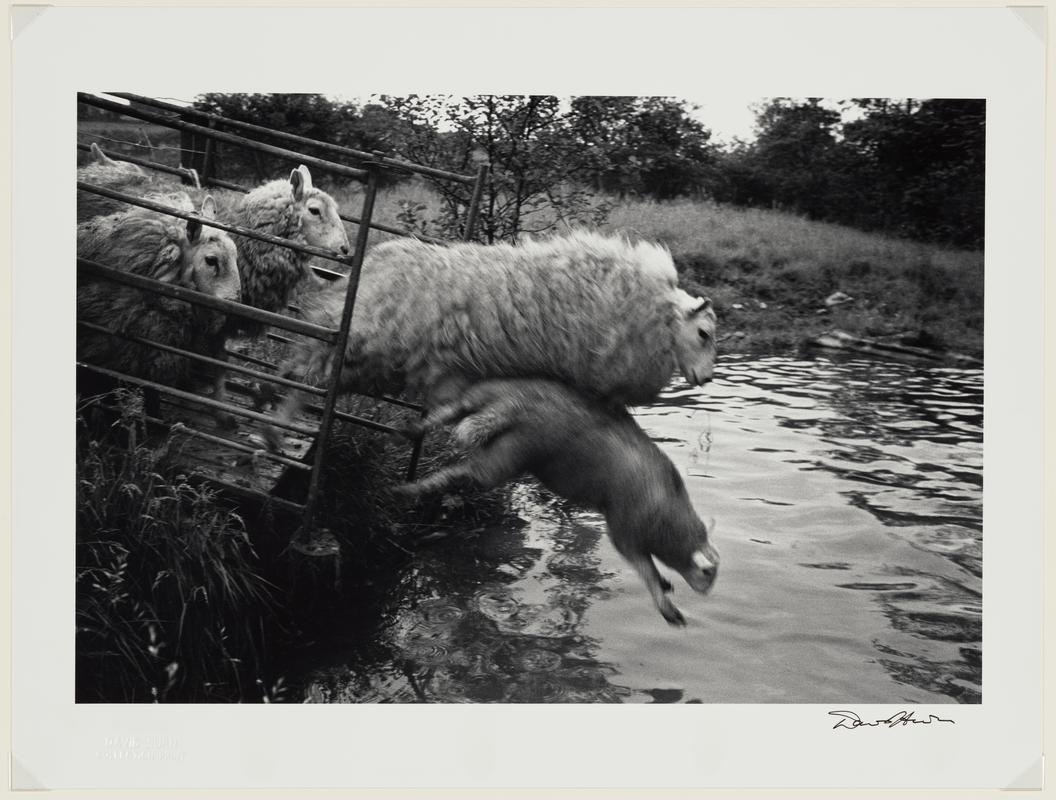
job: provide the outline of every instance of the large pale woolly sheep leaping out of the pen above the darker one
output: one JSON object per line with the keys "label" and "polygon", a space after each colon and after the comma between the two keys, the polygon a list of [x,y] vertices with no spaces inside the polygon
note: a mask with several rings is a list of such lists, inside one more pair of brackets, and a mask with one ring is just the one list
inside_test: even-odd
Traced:
{"label": "large pale woolly sheep leaping out of the pen above the darker one", "polygon": [[[336,327],[346,286],[302,293],[303,317]],[[715,356],[711,301],[678,288],[671,253],[657,245],[584,231],[520,245],[396,240],[363,262],[340,386],[406,388],[428,406],[484,378],[535,377],[637,405],[676,367],[690,383],[708,382]],[[318,383],[332,360],[328,345],[305,342],[284,374]],[[299,394],[281,419],[297,413]]]}

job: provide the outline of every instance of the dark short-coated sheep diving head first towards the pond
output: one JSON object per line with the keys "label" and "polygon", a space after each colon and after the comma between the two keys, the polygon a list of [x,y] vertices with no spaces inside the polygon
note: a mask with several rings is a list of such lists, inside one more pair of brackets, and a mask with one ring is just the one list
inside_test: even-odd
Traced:
{"label": "dark short-coated sheep diving head first towards the pond", "polygon": [[468,457],[407,484],[404,492],[491,489],[534,475],[554,494],[604,514],[612,545],[641,576],[663,618],[685,624],[653,557],[706,593],[718,554],[678,469],[625,408],[553,381],[486,380],[434,407],[408,433],[449,423],[457,423],[453,438]]}

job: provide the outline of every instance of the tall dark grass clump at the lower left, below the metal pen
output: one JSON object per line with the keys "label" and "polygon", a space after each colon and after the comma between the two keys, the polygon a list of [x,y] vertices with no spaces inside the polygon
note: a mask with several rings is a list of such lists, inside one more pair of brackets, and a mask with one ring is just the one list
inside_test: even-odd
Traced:
{"label": "tall dark grass clump at the lower left, below the metal pen", "polygon": [[278,699],[265,680],[272,588],[241,517],[142,443],[142,399],[114,395],[103,436],[77,436],[78,702]]}

